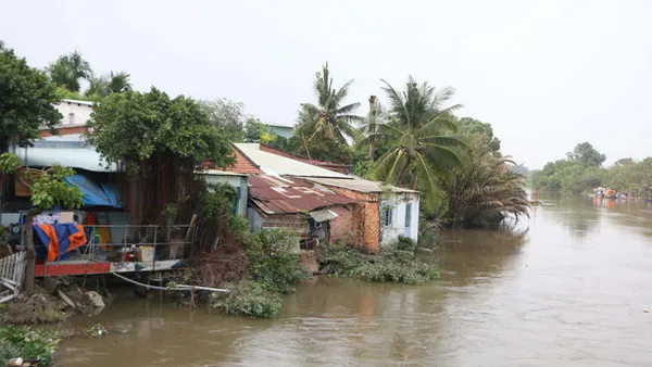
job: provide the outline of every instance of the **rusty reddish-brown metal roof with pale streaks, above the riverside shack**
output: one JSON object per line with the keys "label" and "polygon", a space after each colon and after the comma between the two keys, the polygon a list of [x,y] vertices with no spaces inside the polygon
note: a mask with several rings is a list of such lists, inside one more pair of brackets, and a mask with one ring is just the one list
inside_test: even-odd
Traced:
{"label": "rusty reddish-brown metal roof with pale streaks, above the riverside shack", "polygon": [[296,177],[249,177],[249,198],[266,214],[297,214],[356,200]]}

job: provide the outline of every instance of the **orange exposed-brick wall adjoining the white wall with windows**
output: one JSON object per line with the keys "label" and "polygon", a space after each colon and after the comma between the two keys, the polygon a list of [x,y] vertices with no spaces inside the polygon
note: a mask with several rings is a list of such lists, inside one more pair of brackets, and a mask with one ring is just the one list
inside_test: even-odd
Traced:
{"label": "orange exposed-brick wall adjoining the white wall with windows", "polygon": [[[363,193],[328,185],[324,186],[327,186],[333,191],[358,200],[358,203],[354,205],[353,212],[351,213],[353,227],[349,228],[352,232],[349,238],[354,239],[354,241],[348,242],[355,242],[351,244],[362,245],[372,252],[377,251],[380,244],[379,194]],[[342,238],[342,240],[346,240],[346,238]]]}

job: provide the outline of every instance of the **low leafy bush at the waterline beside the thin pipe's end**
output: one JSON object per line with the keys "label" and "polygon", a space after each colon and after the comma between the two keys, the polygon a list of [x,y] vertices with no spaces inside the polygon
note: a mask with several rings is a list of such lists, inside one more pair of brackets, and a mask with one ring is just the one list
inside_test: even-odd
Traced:
{"label": "low leafy bush at the waterline beside the thin pipe's end", "polygon": [[211,295],[211,308],[251,317],[275,317],[280,312],[280,295],[268,291],[263,283],[243,280],[226,288],[229,293]]}

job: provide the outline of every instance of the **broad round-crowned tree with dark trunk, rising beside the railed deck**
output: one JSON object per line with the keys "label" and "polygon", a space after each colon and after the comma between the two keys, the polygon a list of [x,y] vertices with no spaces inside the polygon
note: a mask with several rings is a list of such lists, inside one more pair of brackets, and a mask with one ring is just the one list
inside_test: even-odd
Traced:
{"label": "broad round-crowned tree with dark trunk, rising beside the railed deck", "polygon": [[199,103],[155,88],[109,94],[93,106],[89,127],[89,141],[102,157],[130,174],[124,202],[135,223],[159,223],[168,204],[191,211],[197,165],[234,162],[228,140]]}

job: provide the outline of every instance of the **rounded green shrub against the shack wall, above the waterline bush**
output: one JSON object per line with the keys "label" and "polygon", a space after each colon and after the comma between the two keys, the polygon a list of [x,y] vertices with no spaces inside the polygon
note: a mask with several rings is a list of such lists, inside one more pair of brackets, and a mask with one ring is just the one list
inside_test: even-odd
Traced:
{"label": "rounded green shrub against the shack wall, above the waterline bush", "polygon": [[263,230],[247,239],[244,252],[249,257],[250,277],[273,292],[289,293],[308,277],[292,252],[299,239],[281,229]]}

